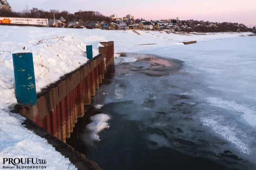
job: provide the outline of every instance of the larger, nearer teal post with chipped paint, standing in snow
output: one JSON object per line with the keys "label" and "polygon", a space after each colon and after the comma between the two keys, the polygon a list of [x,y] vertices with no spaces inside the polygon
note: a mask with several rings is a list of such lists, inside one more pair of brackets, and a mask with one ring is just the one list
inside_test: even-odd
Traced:
{"label": "larger, nearer teal post with chipped paint, standing in snow", "polygon": [[37,102],[33,54],[12,54],[15,93],[19,104],[34,105]]}

